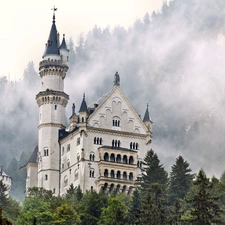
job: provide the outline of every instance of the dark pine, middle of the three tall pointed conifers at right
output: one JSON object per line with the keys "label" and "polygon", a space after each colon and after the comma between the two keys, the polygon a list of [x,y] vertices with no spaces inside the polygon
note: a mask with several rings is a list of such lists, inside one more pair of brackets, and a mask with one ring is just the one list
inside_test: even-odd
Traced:
{"label": "dark pine, middle of the three tall pointed conifers at right", "polygon": [[184,198],[192,185],[194,174],[191,174],[192,170],[189,168],[189,163],[184,161],[182,156],[176,159],[176,164],[172,166],[169,182],[169,200],[171,203],[176,198]]}

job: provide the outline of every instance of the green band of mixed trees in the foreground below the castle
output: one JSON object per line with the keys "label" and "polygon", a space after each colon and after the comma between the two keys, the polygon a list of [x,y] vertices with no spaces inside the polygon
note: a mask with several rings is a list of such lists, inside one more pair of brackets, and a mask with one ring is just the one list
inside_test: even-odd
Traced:
{"label": "green band of mixed trees in the foreground below the castle", "polygon": [[0,181],[0,224],[211,225],[225,224],[225,172],[220,179],[194,174],[182,156],[168,173],[149,150],[132,194],[116,189],[82,193],[70,184],[63,196],[30,188],[22,205]]}

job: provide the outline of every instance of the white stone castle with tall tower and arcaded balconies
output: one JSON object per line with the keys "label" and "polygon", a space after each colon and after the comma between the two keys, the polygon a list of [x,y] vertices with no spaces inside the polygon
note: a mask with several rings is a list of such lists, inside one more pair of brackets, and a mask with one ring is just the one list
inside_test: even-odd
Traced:
{"label": "white stone castle with tall tower and arcaded balconies", "polygon": [[61,45],[55,14],[45,53],[39,64],[41,91],[38,147],[27,163],[26,188],[43,187],[63,195],[71,184],[82,191],[104,189],[131,193],[142,174],[142,160],[152,139],[148,106],[141,120],[120,88],[114,87],[87,107],[85,95],[79,112],[72,108],[66,127],[64,92],[69,50],[65,36]]}

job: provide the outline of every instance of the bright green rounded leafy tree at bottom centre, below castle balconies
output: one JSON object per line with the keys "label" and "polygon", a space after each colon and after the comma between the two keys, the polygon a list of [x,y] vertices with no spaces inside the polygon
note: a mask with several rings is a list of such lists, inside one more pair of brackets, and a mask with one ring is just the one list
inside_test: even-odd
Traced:
{"label": "bright green rounded leafy tree at bottom centre, below castle balconies", "polygon": [[107,207],[102,209],[98,225],[128,225],[128,207],[119,199],[109,199]]}

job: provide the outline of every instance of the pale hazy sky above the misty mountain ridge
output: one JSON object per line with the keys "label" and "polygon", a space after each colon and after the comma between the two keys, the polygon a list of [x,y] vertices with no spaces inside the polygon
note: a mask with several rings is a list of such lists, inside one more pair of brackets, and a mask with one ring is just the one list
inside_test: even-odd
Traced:
{"label": "pale hazy sky above the misty mountain ridge", "polygon": [[160,10],[162,0],[48,0],[5,1],[0,13],[0,77],[21,78],[29,61],[37,69],[52,24],[51,8],[58,8],[58,32],[72,37],[76,44],[80,33],[94,25],[102,28],[131,26],[146,12]]}

